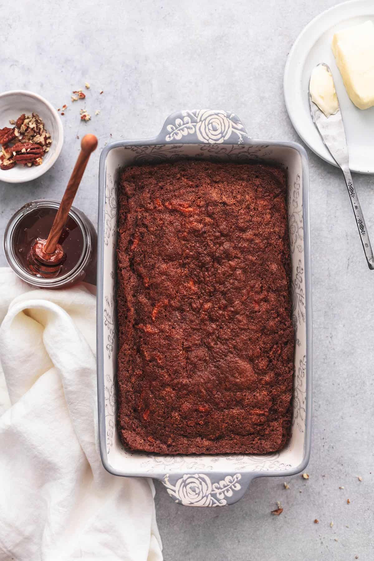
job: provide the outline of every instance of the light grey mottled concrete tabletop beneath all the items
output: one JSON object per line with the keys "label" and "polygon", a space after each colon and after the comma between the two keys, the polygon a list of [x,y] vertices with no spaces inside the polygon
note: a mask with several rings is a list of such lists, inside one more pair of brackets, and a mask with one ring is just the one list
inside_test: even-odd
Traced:
{"label": "light grey mottled concrete tabletop beneath all the items", "polygon": [[[53,169],[24,185],[0,183],[1,233],[22,204],[61,196],[79,149],[76,136],[84,132],[98,135],[99,150],[76,205],[93,221],[104,143],[153,136],[177,109],[231,109],[252,136],[298,140],[283,100],[285,59],[304,25],[335,3],[13,2],[2,17],[1,89],[33,90],[56,108],[67,103],[68,109],[62,117],[66,138]],[[70,103],[71,90],[85,81],[91,84],[86,108],[93,116],[87,123],[79,119],[83,103]],[[292,477],[288,490],[279,478],[257,479],[241,502],[216,509],[179,507],[157,485],[166,561],[374,557],[374,272],[367,269],[340,173],[308,154],[314,338],[310,479]],[[374,179],[354,179],[374,237]],[[279,517],[270,515],[277,500],[284,507]]]}

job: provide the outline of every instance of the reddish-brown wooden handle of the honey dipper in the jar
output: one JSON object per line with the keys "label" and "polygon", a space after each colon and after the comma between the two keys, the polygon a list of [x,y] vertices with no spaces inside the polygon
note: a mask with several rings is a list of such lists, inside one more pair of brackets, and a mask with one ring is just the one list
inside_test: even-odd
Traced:
{"label": "reddish-brown wooden handle of the honey dipper in the jar", "polygon": [[62,229],[66,224],[71,205],[73,204],[73,200],[81,182],[82,175],[86,169],[87,162],[91,152],[96,149],[97,145],[98,139],[94,135],[86,135],[82,138],[81,151],[62,197],[56,217],[54,217],[47,242],[45,242],[44,245],[44,251],[48,254],[52,254],[56,249],[57,242],[61,236]]}

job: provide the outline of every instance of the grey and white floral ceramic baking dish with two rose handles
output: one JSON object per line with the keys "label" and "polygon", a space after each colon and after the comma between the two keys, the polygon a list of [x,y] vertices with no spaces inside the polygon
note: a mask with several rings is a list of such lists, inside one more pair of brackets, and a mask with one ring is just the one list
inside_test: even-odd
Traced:
{"label": "grey and white floral ceramic baking dish with two rose handles", "polygon": [[[295,328],[292,434],[272,454],[162,456],[124,448],[116,426],[117,186],[126,165],[198,158],[268,162],[287,170],[292,320]],[[101,153],[99,171],[97,361],[100,453],[114,475],[155,477],[177,503],[200,507],[237,502],[255,477],[288,476],[306,467],[311,445],[312,313],[308,162],[295,142],[253,140],[227,111],[181,111],[150,140],[113,142]]]}

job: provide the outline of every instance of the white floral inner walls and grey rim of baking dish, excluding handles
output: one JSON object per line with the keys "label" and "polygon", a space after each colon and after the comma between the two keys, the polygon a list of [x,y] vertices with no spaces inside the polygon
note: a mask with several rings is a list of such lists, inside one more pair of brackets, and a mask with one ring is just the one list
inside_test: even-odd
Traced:
{"label": "white floral inner walls and grey rim of baking dish, excluding handles", "polygon": [[[127,145],[108,152],[105,163],[104,224],[104,397],[107,467],[118,475],[160,476],[172,472],[285,472],[297,468],[304,459],[306,442],[306,306],[303,239],[302,157],[292,146],[282,144],[166,144]],[[287,169],[288,220],[292,257],[292,319],[295,328],[294,397],[292,436],[287,446],[272,454],[221,454],[162,456],[131,452],[123,448],[116,424],[116,233],[117,185],[119,170],[125,165],[173,162],[197,158],[246,163],[253,160],[278,163]],[[100,303],[98,302],[98,305]],[[103,452],[103,450],[102,450]]]}

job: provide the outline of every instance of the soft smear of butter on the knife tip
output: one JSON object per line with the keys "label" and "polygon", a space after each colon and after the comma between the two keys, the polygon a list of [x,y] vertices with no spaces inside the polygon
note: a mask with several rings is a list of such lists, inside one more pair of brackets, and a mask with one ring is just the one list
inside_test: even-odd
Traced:
{"label": "soft smear of butter on the knife tip", "polygon": [[333,75],[325,65],[318,65],[313,68],[309,84],[309,93],[314,102],[330,117],[338,111],[339,102],[336,96]]}

